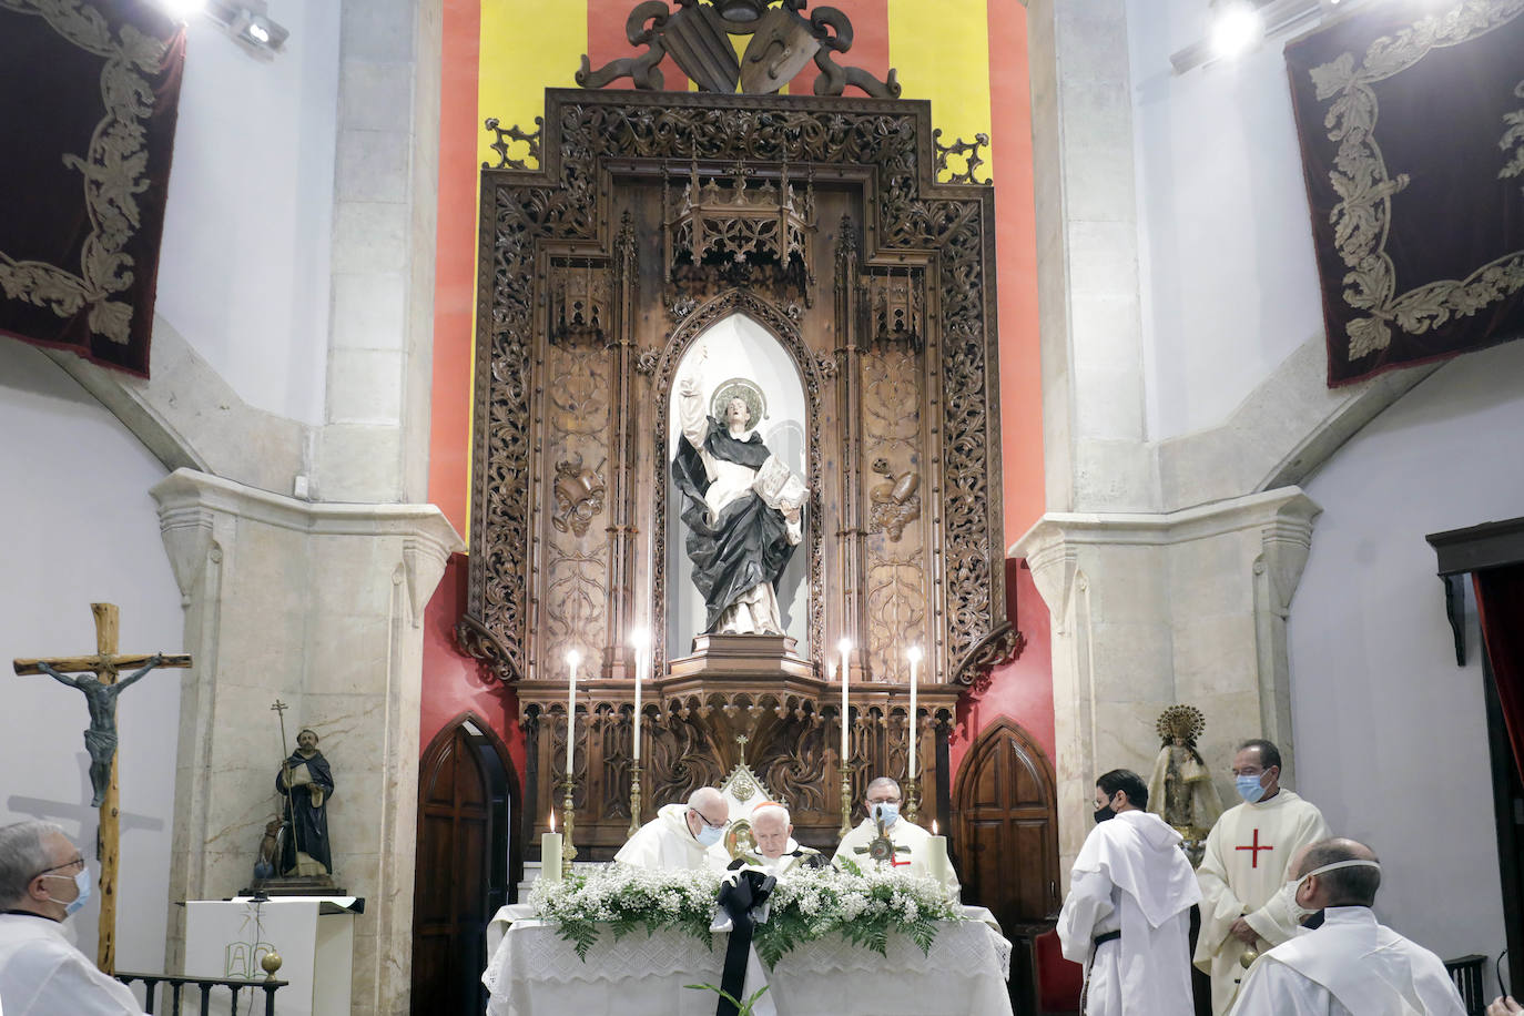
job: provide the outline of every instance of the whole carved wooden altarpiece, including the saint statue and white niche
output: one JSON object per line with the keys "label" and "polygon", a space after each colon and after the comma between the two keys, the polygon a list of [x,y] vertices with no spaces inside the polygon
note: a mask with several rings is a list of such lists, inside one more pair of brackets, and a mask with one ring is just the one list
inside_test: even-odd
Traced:
{"label": "whole carved wooden altarpiece, including the saint statue and white niche", "polygon": [[959,696],[1020,649],[989,187],[888,97],[550,90],[543,131],[489,126],[457,635],[515,692],[524,842],[565,792],[568,650],[582,858],[742,759],[831,847],[913,746],[948,829]]}

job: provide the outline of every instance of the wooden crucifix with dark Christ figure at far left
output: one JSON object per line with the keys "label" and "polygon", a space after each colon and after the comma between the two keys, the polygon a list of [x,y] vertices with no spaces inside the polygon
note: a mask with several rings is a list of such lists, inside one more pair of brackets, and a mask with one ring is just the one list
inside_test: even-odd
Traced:
{"label": "wooden crucifix with dark Christ figure at far left", "polygon": [[[78,689],[90,707],[85,730],[85,751],[90,752],[91,804],[101,809],[101,833],[96,856],[101,859],[101,938],[96,944],[96,966],[105,973],[116,967],[116,865],[120,850],[116,783],[116,698],[154,667],[189,667],[186,653],[119,653],[116,650],[116,603],[91,603],[96,618],[96,652],[93,657],[56,657],[52,660],[15,660],[11,666],[20,675],[46,673],[61,684]],[[117,681],[117,673],[137,667]],[[79,676],[70,678],[70,673]]]}

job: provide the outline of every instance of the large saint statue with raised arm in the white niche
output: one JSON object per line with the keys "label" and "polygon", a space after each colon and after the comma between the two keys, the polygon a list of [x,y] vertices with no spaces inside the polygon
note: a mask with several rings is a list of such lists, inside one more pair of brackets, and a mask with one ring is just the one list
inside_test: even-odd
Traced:
{"label": "large saint statue with raised arm in the white niche", "polygon": [[704,411],[698,367],[678,379],[683,440],[672,480],[683,497],[693,585],[709,608],[706,632],[782,635],[777,580],[803,539],[803,481],[771,454],[753,430],[757,410],[738,395],[724,420]]}

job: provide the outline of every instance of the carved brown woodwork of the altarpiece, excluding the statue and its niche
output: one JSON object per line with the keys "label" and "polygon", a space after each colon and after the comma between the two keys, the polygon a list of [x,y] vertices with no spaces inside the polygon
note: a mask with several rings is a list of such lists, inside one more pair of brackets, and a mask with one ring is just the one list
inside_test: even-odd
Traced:
{"label": "carved brown woodwork of the altarpiece, excluding the statue and its niche", "polygon": [[[1020,644],[1004,625],[989,190],[936,181],[925,104],[553,90],[536,137],[538,169],[483,172],[472,545],[457,626],[460,646],[515,685],[526,832],[559,800],[562,655],[578,646],[590,667],[578,848],[607,858],[623,842],[625,641],[632,625],[668,625],[671,387],[689,344],[736,312],[777,338],[805,396],[803,660],[785,676],[675,673],[669,657],[686,647],[658,638],[639,818],[722,780],[739,734],[759,777],[794,806],[800,839],[831,845],[840,698],[818,661],[841,634],[861,647],[858,797],[873,775],[904,772],[902,649],[924,646],[931,813],[946,794],[937,743],[959,696]],[[663,190],[674,168],[690,175],[695,163],[701,177],[745,163],[747,193],[777,186],[785,165],[796,181],[812,178],[818,227],[802,238],[800,264],[832,271],[786,285],[669,280]]]}

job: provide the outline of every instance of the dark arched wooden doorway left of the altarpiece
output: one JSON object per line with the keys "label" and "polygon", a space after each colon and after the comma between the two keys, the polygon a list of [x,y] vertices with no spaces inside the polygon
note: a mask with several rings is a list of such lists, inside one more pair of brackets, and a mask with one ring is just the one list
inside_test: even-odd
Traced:
{"label": "dark arched wooden doorway left of the altarpiece", "polygon": [[469,713],[439,731],[419,762],[415,1016],[486,1010],[486,923],[507,902],[518,867],[511,766],[503,742]]}

